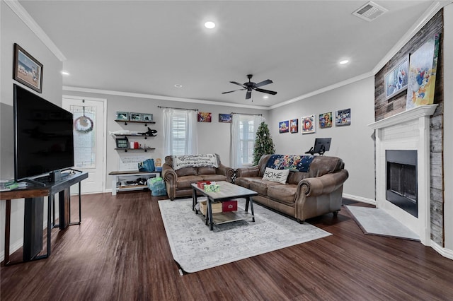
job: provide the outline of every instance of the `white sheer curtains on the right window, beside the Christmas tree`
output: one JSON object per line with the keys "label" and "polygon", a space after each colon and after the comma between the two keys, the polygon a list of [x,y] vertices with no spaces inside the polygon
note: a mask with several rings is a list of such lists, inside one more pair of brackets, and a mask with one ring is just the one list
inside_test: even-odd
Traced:
{"label": "white sheer curtains on the right window, beside the Christmas tree", "polygon": [[[230,150],[230,161],[231,167],[236,169],[243,167],[243,148],[252,148],[253,142],[256,138],[256,130],[260,126],[261,122],[264,121],[261,115],[250,115],[250,114],[232,114],[231,115],[231,150]],[[253,126],[247,126],[252,124]],[[248,133],[245,133],[248,131]],[[245,134],[249,134],[253,137],[253,141],[245,141]],[[249,156],[253,160],[253,153]]]}

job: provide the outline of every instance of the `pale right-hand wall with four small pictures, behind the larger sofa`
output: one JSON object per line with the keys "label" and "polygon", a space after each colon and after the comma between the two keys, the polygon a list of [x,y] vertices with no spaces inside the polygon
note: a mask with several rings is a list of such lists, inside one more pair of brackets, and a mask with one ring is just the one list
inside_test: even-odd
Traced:
{"label": "pale right-hand wall with four small pictures, behind the larger sofa", "polygon": [[[351,124],[319,129],[319,114],[351,109]],[[316,115],[316,133],[301,134],[300,118]],[[279,122],[299,118],[299,134],[279,134]],[[304,154],[314,146],[315,138],[331,137],[331,149],[326,155],[342,158],[349,178],[343,194],[357,201],[374,203],[374,140],[367,126],[374,122],[374,76],[334,90],[278,107],[270,112],[270,134],[276,152]]]}

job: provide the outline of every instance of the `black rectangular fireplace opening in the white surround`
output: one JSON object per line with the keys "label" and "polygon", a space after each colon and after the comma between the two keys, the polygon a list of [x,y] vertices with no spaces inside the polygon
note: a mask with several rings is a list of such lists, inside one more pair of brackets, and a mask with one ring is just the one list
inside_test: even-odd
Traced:
{"label": "black rectangular fireplace opening in the white surround", "polygon": [[417,151],[387,150],[386,199],[418,218]]}

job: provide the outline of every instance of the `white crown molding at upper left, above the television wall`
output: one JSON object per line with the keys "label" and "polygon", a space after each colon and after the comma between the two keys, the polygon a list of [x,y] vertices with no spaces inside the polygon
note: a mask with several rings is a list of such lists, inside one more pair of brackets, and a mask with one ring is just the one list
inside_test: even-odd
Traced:
{"label": "white crown molding at upper left, above the television wall", "polygon": [[16,13],[16,15],[22,20],[25,25],[30,28],[33,33],[38,37],[38,39],[41,40],[44,45],[49,48],[49,50],[59,59],[60,61],[66,61],[66,57],[64,57],[64,54],[58,49],[57,45],[50,40],[50,37],[46,35],[44,30],[40,28],[40,25],[36,23],[35,20],[30,16],[30,13],[28,11],[25,11],[25,8],[21,6],[18,0],[3,0],[4,3],[11,8],[11,11]]}

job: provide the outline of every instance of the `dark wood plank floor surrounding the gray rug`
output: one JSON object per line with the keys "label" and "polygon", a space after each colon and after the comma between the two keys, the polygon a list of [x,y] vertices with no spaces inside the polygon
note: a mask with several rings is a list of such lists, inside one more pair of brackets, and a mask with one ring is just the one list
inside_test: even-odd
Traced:
{"label": "dark wood plank floor surrounding the gray rug", "polygon": [[157,199],[83,196],[81,225],[52,230],[50,258],[1,266],[0,299],[453,300],[452,260],[420,242],[364,235],[345,208],[309,220],[329,237],[180,276]]}

